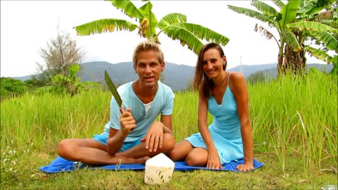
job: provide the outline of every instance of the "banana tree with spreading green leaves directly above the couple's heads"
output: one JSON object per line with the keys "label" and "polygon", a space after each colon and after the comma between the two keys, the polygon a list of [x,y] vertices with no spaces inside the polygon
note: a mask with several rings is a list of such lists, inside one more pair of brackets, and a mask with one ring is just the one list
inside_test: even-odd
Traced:
{"label": "banana tree with spreading green leaves directly above the couple's heads", "polygon": [[[207,27],[187,23],[187,16],[180,13],[170,13],[158,21],[151,11],[152,4],[147,1],[143,6],[137,8],[132,1],[109,0],[115,8],[120,8],[125,15],[135,18],[137,23],[116,18],[94,20],[90,23],[75,27],[77,35],[101,34],[102,32],[115,31],[134,31],[138,29],[138,34],[150,41],[160,43],[158,35],[162,32],[173,40],[180,40],[182,46],[199,53],[203,46],[201,40],[216,42],[225,46],[229,39],[218,32]],[[156,29],[159,31],[156,32]]]}

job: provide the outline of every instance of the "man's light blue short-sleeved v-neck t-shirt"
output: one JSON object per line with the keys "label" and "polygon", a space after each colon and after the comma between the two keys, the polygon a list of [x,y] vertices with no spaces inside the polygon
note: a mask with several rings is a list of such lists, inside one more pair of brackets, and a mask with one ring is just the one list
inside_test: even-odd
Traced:
{"label": "man's light blue short-sleeved v-neck t-shirt", "polygon": [[[128,134],[125,138],[125,141],[134,141],[142,137],[146,132],[148,132],[151,124],[156,120],[158,115],[172,115],[173,114],[173,104],[174,104],[174,93],[167,85],[158,82],[158,90],[156,96],[154,97],[153,102],[151,103],[151,108],[148,113],[146,113],[146,107],[144,103],[137,97],[132,89],[132,83],[128,82],[118,87],[118,94],[120,94],[121,99],[123,100],[123,108],[131,109],[132,117],[136,122],[136,127]],[[114,97],[111,97],[111,119],[104,127],[104,132],[101,135],[109,135],[109,127],[113,129],[120,129],[120,108],[118,108],[118,103],[115,101]]]}

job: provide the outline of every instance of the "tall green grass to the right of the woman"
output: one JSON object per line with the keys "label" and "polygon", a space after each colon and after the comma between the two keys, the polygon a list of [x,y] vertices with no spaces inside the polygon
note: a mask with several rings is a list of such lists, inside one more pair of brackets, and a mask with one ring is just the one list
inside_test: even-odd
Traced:
{"label": "tall green grass to the right of the woman", "polygon": [[283,172],[287,153],[301,156],[305,174],[337,172],[337,77],[287,75],[249,85],[249,93],[255,141],[268,141]]}

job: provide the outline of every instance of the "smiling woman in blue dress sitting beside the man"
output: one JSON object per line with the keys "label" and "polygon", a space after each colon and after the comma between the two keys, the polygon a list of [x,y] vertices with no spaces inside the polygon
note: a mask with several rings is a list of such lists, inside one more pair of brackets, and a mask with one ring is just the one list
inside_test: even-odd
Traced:
{"label": "smiling woman in blue dress sitting beside the man", "polygon": [[[209,43],[199,52],[194,88],[199,90],[199,133],[175,144],[168,156],[185,158],[187,165],[220,169],[224,163],[244,158],[239,171],[253,170],[253,137],[249,94],[239,72],[227,72],[220,45]],[[207,126],[208,111],[213,123]]]}

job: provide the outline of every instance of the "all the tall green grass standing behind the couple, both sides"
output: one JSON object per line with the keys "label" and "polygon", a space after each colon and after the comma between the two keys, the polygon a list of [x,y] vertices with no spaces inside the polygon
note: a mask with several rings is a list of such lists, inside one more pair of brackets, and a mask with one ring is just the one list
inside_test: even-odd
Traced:
{"label": "all the tall green grass standing behind the couple, both sides", "polygon": [[[255,152],[273,152],[280,170],[287,159],[303,161],[309,172],[337,172],[337,77],[286,76],[280,80],[248,84]],[[43,94],[1,102],[1,151],[34,143],[35,148],[56,146],[65,138],[91,138],[109,120],[108,91],[75,96]],[[175,93],[173,134],[177,141],[199,131],[196,92]],[[212,117],[208,116],[208,123]],[[264,161],[264,160],[262,160]]]}

